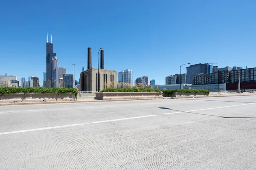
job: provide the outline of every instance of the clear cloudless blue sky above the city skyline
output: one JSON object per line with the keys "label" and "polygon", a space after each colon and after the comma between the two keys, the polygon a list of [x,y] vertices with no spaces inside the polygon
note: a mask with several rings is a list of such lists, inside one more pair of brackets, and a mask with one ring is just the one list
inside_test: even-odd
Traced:
{"label": "clear cloudless blue sky above the city skyline", "polygon": [[255,0],[4,0],[0,74],[42,80],[47,33],[59,66],[73,74],[76,63],[76,80],[87,47],[93,68],[102,47],[106,69],[131,69],[133,81],[156,84],[187,62],[256,67],[255,9]]}

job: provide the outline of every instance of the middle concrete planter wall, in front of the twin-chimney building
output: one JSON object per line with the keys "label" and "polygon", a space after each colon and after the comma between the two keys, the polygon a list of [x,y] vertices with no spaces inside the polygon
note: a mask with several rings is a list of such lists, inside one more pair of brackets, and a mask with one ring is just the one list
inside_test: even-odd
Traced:
{"label": "middle concrete planter wall, in front of the twin-chimney building", "polygon": [[111,99],[153,99],[162,98],[163,93],[158,92],[99,92],[95,93],[94,99],[111,100]]}

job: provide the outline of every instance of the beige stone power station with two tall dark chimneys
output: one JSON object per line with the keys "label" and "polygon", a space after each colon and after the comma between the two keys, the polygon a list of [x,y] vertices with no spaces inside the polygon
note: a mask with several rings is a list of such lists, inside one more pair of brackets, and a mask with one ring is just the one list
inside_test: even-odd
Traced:
{"label": "beige stone power station with two tall dark chimneys", "polygon": [[91,48],[87,48],[87,70],[84,67],[80,74],[81,91],[101,91],[105,88],[116,88],[117,86],[117,72],[114,70],[107,70],[104,66],[104,51],[101,50],[101,60],[99,68],[99,82],[98,69],[92,68]]}

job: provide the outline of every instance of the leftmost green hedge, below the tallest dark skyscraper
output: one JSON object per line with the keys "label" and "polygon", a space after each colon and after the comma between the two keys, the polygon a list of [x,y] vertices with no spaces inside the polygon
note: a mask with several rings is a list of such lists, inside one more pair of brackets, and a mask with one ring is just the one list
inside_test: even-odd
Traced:
{"label": "leftmost green hedge, below the tallest dark skyscraper", "polygon": [[67,94],[67,93],[73,93],[75,94],[75,97],[77,98],[78,91],[75,88],[43,88],[43,87],[37,87],[37,88],[6,88],[6,87],[0,87],[0,94],[12,94],[12,93],[57,93],[57,94]]}

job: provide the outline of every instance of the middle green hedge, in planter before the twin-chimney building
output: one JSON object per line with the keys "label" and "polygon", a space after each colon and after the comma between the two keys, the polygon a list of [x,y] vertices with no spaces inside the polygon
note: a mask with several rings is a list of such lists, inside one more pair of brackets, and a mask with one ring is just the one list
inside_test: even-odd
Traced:
{"label": "middle green hedge, in planter before the twin-chimney building", "polygon": [[159,89],[155,88],[107,88],[103,89],[101,92],[143,92],[143,91],[156,91],[161,93]]}

